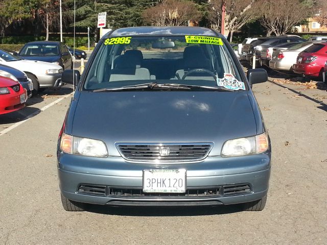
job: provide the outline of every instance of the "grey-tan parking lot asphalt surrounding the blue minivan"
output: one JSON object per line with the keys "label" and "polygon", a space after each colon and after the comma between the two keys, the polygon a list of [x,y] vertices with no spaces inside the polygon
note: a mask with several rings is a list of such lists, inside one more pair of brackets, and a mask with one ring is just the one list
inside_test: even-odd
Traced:
{"label": "grey-tan parking lot asphalt surrounding the blue minivan", "polygon": [[0,115],[1,132],[66,96],[0,133],[0,244],[326,244],[327,91],[271,81],[253,85],[273,156],[260,212],[238,206],[66,212],[56,145],[71,90],[45,90],[19,113]]}

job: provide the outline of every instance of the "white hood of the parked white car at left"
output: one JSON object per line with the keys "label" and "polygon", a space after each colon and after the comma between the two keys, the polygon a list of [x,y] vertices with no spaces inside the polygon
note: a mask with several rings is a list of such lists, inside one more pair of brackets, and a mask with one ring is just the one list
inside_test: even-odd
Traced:
{"label": "white hood of the parked white car at left", "polygon": [[60,65],[35,60],[8,61],[5,64],[22,71],[32,72],[33,74],[45,74],[46,69],[62,69]]}

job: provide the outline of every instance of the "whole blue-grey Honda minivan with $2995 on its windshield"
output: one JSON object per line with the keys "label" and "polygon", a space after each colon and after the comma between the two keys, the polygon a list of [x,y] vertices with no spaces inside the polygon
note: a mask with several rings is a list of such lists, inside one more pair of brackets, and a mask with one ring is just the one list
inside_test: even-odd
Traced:
{"label": "whole blue-grey Honda minivan with $2995 on its windshield", "polygon": [[65,70],[62,80],[73,77],[57,148],[65,210],[84,203],[264,208],[271,149],[251,85],[267,81],[267,72],[249,69],[246,77],[221,34],[117,29],[97,44],[82,77]]}

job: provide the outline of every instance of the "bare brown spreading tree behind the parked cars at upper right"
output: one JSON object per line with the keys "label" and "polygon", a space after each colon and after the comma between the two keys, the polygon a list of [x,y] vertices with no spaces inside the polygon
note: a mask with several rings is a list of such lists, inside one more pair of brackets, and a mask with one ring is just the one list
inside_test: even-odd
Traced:
{"label": "bare brown spreading tree behind the parked cars at upper right", "polygon": [[309,17],[310,11],[300,0],[259,0],[262,26],[267,28],[267,36],[274,33],[281,36],[300,21]]}

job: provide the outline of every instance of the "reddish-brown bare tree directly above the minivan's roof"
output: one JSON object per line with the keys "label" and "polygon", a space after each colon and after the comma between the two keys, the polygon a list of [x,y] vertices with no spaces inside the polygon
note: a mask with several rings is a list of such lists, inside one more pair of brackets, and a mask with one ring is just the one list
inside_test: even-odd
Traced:
{"label": "reddish-brown bare tree directly above the minivan's roof", "polygon": [[189,20],[198,21],[200,12],[193,2],[165,0],[146,9],[143,18],[153,26],[187,26]]}

